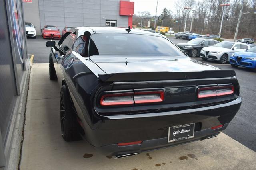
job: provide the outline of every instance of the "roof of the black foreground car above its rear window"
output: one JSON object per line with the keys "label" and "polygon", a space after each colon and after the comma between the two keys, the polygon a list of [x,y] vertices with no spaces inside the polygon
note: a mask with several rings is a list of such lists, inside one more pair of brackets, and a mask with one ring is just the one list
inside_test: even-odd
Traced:
{"label": "roof of the black foreground car above its rear window", "polygon": [[[126,28],[120,28],[120,27],[76,27],[75,29],[78,29],[79,32],[85,32],[93,31],[94,33],[127,33]],[[149,31],[144,31],[140,29],[131,29],[129,33],[132,34],[141,34],[141,35],[154,35],[158,37],[162,37],[161,35],[158,35],[156,33],[152,33]]]}

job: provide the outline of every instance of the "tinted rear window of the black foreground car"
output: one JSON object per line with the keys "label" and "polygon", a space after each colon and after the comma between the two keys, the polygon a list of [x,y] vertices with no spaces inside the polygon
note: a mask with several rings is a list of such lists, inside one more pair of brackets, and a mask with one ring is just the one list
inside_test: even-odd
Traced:
{"label": "tinted rear window of the black foreground car", "polygon": [[131,33],[93,34],[89,55],[185,56],[163,37]]}

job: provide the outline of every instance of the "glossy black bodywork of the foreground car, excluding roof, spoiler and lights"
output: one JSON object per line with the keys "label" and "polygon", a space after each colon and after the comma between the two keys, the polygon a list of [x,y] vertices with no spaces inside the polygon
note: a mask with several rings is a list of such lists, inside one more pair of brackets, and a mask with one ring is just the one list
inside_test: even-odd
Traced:
{"label": "glossy black bodywork of the foreground car, excluding roof, spoiler and lights", "polygon": [[[78,32],[78,30],[72,29]],[[88,29],[92,34],[96,31]],[[192,72],[204,70],[214,71],[217,68],[208,66],[191,59],[145,59],[128,58],[128,64],[124,58],[112,58],[102,62],[102,58],[76,57],[78,53],[72,49],[65,53],[59,49],[60,43],[51,48],[50,56],[54,61],[60,86],[66,84],[76,112],[76,117],[81,126],[80,134],[92,146],[105,155],[120,155],[127,153],[140,153],[146,150],[154,150],[163,147],[179,145],[195,140],[212,137],[226,129],[238,111],[241,98],[239,84],[234,74],[226,78],[192,78],[181,80],[150,80],[114,82],[103,81],[99,74],[145,72],[140,67],[147,68],[149,72],[158,72],[160,68],[153,65],[167,62],[169,66],[160,70],[168,72],[181,72],[182,66],[195,65]],[[77,38],[77,35],[76,35]],[[177,49],[178,50],[178,49]],[[76,55],[75,55],[76,54]],[[127,57],[126,57],[127,59]],[[81,61],[83,60],[83,61]],[[115,63],[114,61],[119,61]],[[148,59],[146,59],[148,60]],[[86,63],[86,64],[84,64]],[[182,66],[180,66],[180,64]],[[120,65],[120,66],[118,66]],[[93,66],[93,70],[90,68]],[[179,68],[180,67],[180,68]],[[152,70],[153,69],[153,70]],[[184,68],[183,68],[184,69]],[[158,72],[161,75],[161,72]],[[143,74],[142,74],[143,75]],[[207,74],[206,74],[207,75]],[[186,76],[186,75],[184,75]],[[220,98],[198,100],[196,89],[198,85],[234,84],[235,94]],[[162,104],[147,104],[129,107],[102,107],[99,106],[98,94],[106,91],[136,90],[136,89],[162,88],[166,92],[166,100]],[[168,143],[168,127],[196,123],[195,137],[189,140]],[[216,130],[210,128],[224,124],[224,127]],[[117,143],[131,141],[143,141],[141,145],[119,147]]]}

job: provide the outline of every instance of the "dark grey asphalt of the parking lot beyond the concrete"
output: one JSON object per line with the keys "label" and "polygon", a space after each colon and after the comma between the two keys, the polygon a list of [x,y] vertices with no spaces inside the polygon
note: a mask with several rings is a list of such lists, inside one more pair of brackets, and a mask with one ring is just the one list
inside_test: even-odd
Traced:
{"label": "dark grey asphalt of the parking lot beyond the concrete", "polygon": [[[188,41],[175,37],[168,37],[168,39],[174,44]],[[28,52],[34,54],[33,63],[48,63],[50,49],[45,46],[46,41],[49,40],[42,39],[41,36],[36,37],[36,39],[28,39]],[[58,43],[58,40],[55,41]],[[216,61],[203,61],[200,57],[194,59],[220,69],[235,70],[240,84],[242,106],[224,133],[256,151],[256,72],[242,67],[232,68],[228,63],[219,64]]]}

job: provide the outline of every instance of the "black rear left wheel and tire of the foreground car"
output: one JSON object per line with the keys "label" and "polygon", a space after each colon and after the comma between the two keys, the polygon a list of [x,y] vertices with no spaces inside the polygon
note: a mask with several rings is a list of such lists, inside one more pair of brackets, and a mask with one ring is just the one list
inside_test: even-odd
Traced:
{"label": "black rear left wheel and tire of the foreground car", "polygon": [[61,134],[65,141],[77,141],[81,139],[78,133],[78,123],[75,114],[68,89],[66,85],[63,85],[60,91],[60,125]]}

